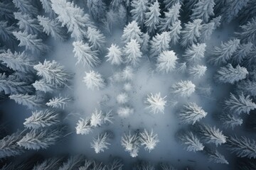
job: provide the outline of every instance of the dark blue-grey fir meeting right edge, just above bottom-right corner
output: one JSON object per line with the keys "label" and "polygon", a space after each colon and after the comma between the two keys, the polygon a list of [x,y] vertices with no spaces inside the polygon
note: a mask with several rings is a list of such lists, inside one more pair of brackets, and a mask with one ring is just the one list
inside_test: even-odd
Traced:
{"label": "dark blue-grey fir meeting right edge, just above bottom-right corner", "polygon": [[256,141],[247,137],[228,137],[227,142],[230,151],[235,153],[237,157],[256,158]]}

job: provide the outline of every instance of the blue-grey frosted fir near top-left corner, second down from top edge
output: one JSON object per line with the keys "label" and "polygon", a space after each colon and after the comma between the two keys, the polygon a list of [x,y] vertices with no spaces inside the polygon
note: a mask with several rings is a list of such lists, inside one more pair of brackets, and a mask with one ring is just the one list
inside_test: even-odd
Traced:
{"label": "blue-grey frosted fir near top-left corner, second down from top edge", "polygon": [[40,35],[43,32],[42,26],[39,25],[36,18],[31,18],[26,13],[14,13],[15,19],[18,20],[18,27],[20,30],[32,35]]}

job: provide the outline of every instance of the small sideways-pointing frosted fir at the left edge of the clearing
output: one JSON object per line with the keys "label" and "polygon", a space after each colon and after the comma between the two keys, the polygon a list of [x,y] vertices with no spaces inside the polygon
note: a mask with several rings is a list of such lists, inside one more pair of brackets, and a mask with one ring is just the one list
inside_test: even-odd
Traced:
{"label": "small sideways-pointing frosted fir at the left edge of the clearing", "polygon": [[54,97],[51,98],[47,103],[46,106],[49,106],[51,108],[65,108],[65,106],[68,105],[68,103],[71,103],[73,101],[73,98],[70,97]]}

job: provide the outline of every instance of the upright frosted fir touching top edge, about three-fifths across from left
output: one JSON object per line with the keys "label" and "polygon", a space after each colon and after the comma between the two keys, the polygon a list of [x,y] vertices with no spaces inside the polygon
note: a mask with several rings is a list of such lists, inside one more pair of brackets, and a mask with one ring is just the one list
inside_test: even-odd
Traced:
{"label": "upright frosted fir touching top edge, about three-fifths across from left", "polygon": [[144,21],[144,24],[146,28],[148,28],[148,33],[150,35],[154,34],[156,30],[156,26],[158,26],[160,23],[159,16],[161,16],[161,13],[160,13],[159,7],[160,7],[159,2],[156,0],[154,1],[153,4],[149,6],[149,11],[145,13],[146,20]]}

